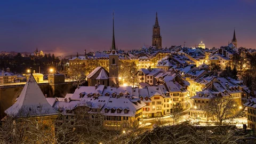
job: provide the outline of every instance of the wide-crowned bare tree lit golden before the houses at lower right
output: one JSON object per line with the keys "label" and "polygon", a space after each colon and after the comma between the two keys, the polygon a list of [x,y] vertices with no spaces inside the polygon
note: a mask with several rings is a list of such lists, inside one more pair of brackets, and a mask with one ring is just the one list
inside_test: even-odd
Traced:
{"label": "wide-crowned bare tree lit golden before the houses at lower right", "polygon": [[213,117],[213,120],[216,118],[216,122],[219,125],[222,125],[222,122],[226,120],[229,120],[230,122],[241,114],[237,103],[228,97],[211,99],[205,109],[207,115]]}

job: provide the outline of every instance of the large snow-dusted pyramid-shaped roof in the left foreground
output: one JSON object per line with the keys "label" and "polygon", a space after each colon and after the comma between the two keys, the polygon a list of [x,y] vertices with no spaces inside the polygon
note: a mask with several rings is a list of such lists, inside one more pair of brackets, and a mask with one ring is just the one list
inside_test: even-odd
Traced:
{"label": "large snow-dusted pyramid-shaped roof in the left foreground", "polygon": [[57,115],[57,111],[45,99],[33,75],[30,75],[18,100],[4,111],[13,117]]}

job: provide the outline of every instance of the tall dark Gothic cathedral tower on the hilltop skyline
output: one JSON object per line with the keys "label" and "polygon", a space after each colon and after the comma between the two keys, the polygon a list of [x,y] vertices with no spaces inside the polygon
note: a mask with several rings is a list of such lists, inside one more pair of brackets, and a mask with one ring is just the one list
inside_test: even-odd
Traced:
{"label": "tall dark Gothic cathedral tower on the hilltop skyline", "polygon": [[162,48],[162,36],[160,35],[160,27],[158,24],[157,12],[155,25],[153,26],[152,46],[157,47],[157,49]]}

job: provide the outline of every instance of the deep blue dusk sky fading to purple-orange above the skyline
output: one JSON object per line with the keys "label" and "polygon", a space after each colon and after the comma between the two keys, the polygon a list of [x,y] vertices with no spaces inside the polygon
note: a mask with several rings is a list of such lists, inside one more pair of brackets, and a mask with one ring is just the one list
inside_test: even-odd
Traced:
{"label": "deep blue dusk sky fading to purple-orange above the skyline", "polygon": [[227,45],[234,27],[238,46],[256,48],[256,3],[225,1],[2,1],[0,51],[108,50],[112,15],[118,49],[151,45],[155,13],[163,46]]}

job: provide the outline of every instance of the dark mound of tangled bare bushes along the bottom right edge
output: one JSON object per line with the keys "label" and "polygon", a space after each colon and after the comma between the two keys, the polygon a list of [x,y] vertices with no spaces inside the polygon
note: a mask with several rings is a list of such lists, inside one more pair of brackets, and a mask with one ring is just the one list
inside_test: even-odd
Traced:
{"label": "dark mound of tangled bare bushes along the bottom right edge", "polygon": [[[247,134],[234,126],[209,127],[204,129],[186,123],[159,126],[140,135],[134,143],[241,143]],[[242,136],[241,136],[242,135]]]}

